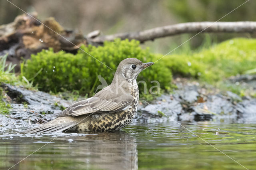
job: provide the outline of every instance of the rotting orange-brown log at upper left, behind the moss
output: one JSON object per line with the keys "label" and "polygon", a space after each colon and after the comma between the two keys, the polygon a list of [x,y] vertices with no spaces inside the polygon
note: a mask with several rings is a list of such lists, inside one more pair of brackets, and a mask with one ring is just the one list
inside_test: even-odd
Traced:
{"label": "rotting orange-brown log at upper left, behind the moss", "polygon": [[[32,16],[36,18],[36,14]],[[19,65],[22,59],[49,47],[54,51],[76,52],[81,44],[87,44],[81,33],[64,30],[54,18],[48,18],[41,24],[33,17],[23,14],[17,16],[14,22],[0,26],[0,55],[8,53],[8,63]],[[19,71],[20,68],[15,69]]]}

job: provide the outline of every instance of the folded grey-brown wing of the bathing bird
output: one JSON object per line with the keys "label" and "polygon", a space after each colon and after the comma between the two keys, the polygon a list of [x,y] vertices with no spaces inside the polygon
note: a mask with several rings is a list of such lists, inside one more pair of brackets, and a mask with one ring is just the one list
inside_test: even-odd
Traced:
{"label": "folded grey-brown wing of the bathing bird", "polygon": [[133,97],[130,94],[108,97],[104,95],[95,95],[94,97],[74,103],[59,116],[81,116],[95,113],[115,113],[125,109],[132,103]]}

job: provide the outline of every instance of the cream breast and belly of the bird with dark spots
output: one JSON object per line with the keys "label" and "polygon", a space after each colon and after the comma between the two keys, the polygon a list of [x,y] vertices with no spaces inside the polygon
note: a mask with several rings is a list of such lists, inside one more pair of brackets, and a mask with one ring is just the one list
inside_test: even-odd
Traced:
{"label": "cream breast and belly of the bird with dark spots", "polygon": [[91,118],[85,123],[76,125],[76,129],[74,130],[106,132],[119,130],[126,127],[132,122],[137,112],[139,100],[139,90],[137,83],[132,86],[131,94],[134,97],[132,104],[129,105],[124,111],[92,115]]}

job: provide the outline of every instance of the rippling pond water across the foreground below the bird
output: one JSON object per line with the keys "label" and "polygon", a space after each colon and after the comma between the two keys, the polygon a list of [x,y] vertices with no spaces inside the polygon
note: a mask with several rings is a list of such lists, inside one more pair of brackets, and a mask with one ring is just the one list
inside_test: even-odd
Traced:
{"label": "rippling pond water across the foreground below the bird", "polygon": [[12,169],[256,169],[256,124],[182,126],[133,123],[120,132],[98,134],[5,131],[0,133],[0,169],[39,148]]}

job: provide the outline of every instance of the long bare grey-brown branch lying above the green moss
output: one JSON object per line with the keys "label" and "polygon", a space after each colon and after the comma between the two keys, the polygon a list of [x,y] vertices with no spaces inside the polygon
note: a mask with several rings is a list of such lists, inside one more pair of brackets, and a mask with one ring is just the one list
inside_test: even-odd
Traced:
{"label": "long bare grey-brown branch lying above the green moss", "polygon": [[116,38],[120,38],[122,40],[135,39],[140,42],[145,42],[156,38],[198,32],[253,33],[256,32],[256,22],[188,22],[139,32],[124,32],[107,36],[96,36],[95,38],[90,38],[89,36],[89,41],[93,43],[103,43],[104,41],[113,41]]}

